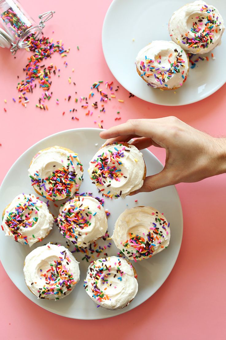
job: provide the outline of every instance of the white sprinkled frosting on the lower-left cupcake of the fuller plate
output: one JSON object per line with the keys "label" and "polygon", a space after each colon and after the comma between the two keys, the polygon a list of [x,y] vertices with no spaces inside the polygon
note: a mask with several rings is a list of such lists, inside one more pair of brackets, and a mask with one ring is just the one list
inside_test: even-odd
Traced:
{"label": "white sprinkled frosting on the lower-left cupcake of the fuller plate", "polygon": [[23,271],[27,287],[41,299],[61,299],[80,279],[79,262],[71,252],[50,243],[26,256]]}

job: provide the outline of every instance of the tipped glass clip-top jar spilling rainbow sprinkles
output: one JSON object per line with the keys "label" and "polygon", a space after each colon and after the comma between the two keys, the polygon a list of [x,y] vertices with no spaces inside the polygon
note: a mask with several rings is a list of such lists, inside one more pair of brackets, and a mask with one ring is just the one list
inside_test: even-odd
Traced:
{"label": "tipped glass clip-top jar spilling rainbow sprinkles", "polygon": [[15,0],[0,0],[0,46],[11,47],[13,54],[19,48],[27,48],[31,34],[37,39],[42,33],[45,22],[53,17],[54,11],[39,15],[37,24]]}

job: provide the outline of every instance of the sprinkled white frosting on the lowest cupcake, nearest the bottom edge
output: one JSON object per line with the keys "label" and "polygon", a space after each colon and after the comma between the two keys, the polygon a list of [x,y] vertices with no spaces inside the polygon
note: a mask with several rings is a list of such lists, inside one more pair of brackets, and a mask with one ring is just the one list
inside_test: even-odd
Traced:
{"label": "sprinkled white frosting on the lowest cupcake, nearest the bottom edge", "polygon": [[106,309],[120,309],[136,296],[136,277],[131,263],[123,258],[110,256],[98,259],[89,266],[84,288],[97,305]]}

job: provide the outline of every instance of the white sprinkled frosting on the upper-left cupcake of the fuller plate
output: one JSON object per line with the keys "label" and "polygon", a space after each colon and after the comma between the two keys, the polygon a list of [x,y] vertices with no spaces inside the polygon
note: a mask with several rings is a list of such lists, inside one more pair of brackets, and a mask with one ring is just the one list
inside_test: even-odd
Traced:
{"label": "white sprinkled frosting on the upper-left cupcake of the fuller plate", "polygon": [[59,146],[39,151],[28,169],[32,185],[43,197],[72,197],[82,183],[83,168],[78,154]]}

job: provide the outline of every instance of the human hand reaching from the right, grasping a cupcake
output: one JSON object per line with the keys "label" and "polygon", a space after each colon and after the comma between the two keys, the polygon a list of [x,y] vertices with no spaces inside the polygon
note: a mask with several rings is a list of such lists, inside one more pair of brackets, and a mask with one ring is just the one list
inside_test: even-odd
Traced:
{"label": "human hand reaching from the right, grasping a cupcake", "polygon": [[153,191],[180,182],[198,182],[226,172],[226,138],[214,138],[176,117],[132,119],[100,133],[101,138],[128,142],[139,150],[149,146],[166,149],[164,169],[146,177],[141,189]]}

